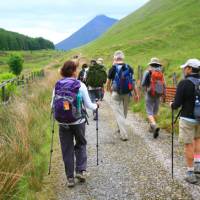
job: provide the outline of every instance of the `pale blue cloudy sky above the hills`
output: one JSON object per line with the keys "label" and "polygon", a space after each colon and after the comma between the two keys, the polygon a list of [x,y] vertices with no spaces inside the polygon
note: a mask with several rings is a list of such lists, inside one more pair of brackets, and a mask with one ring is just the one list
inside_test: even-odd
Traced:
{"label": "pale blue cloudy sky above the hills", "polygon": [[58,43],[96,15],[121,19],[148,0],[2,0],[0,27]]}

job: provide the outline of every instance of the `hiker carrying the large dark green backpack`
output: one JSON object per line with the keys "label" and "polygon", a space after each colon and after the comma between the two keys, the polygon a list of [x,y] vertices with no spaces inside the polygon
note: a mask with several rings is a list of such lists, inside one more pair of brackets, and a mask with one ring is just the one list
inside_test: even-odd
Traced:
{"label": "hiker carrying the large dark green backpack", "polygon": [[[87,72],[86,84],[88,85],[88,92],[92,102],[101,99],[101,91],[103,85],[106,83],[107,74],[101,65],[99,65],[95,60],[91,60],[90,67]],[[93,113],[94,120],[96,120],[96,114]]]}

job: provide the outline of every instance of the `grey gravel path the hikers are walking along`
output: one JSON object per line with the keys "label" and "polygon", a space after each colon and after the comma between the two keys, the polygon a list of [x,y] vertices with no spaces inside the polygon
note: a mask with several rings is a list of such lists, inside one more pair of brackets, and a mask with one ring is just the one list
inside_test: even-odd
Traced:
{"label": "grey gravel path the hikers are walking along", "polygon": [[[90,117],[87,126],[88,178],[73,189],[65,185],[66,178],[60,147],[54,151],[52,184],[58,200],[150,200],[200,199],[200,186],[183,181],[184,160],[182,147],[175,142],[175,180],[171,179],[170,135],[164,131],[157,140],[148,133],[148,125],[130,113],[129,140],[122,142],[118,134],[110,100],[102,102],[99,113],[99,159],[96,166],[96,124]],[[90,113],[91,116],[91,113]]]}

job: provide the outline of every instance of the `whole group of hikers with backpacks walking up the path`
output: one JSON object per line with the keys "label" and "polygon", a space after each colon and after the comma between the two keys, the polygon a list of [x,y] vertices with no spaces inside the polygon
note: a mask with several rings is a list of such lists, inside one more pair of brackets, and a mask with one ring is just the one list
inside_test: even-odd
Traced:
{"label": "whole group of hikers with backpacks walking up the path", "polygon": [[[73,60],[65,62],[60,69],[62,78],[55,84],[51,106],[54,118],[59,124],[68,187],[74,187],[75,178],[80,182],[86,180],[85,131],[88,123],[86,109],[93,111],[93,119],[96,120],[98,131],[98,109],[101,105],[100,101],[104,98],[105,86],[111,93],[111,107],[117,121],[120,139],[122,141],[129,139],[130,125],[126,120],[129,101],[132,97],[135,102],[138,102],[140,96],[134,79],[134,70],[124,60],[124,53],[116,51],[108,74],[102,58],[97,61],[91,60],[90,64],[84,63],[79,73],[78,63]],[[172,110],[181,107],[179,140],[185,144],[188,167],[185,180],[189,183],[197,183],[197,178],[200,177],[200,61],[190,59],[181,68],[184,79],[178,84],[175,100],[170,103],[170,106]],[[166,95],[163,68],[158,58],[152,58],[148,63],[141,85],[145,92],[149,132],[156,139],[160,131],[156,116],[160,99]]]}

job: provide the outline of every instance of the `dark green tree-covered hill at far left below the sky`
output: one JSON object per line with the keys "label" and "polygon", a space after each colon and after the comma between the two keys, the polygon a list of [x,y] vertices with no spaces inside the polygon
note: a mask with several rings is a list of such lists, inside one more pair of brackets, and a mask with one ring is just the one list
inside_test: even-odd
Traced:
{"label": "dark green tree-covered hill at far left below the sky", "polygon": [[54,44],[42,37],[31,38],[0,28],[0,50],[54,49]]}

